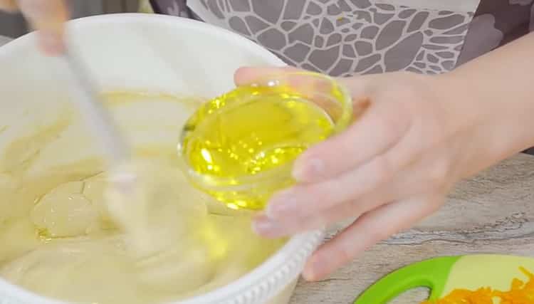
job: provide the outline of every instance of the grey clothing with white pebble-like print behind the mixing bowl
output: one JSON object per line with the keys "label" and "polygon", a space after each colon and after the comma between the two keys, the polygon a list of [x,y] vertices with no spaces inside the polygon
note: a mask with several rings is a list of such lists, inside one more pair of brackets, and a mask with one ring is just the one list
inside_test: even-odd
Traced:
{"label": "grey clothing with white pebble-like print behind the mixing bowl", "polygon": [[534,0],[152,0],[333,76],[453,69],[534,28]]}

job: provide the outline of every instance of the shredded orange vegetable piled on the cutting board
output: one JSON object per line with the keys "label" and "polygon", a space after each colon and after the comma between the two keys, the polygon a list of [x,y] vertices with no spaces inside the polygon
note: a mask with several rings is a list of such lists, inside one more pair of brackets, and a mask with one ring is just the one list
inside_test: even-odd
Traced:
{"label": "shredded orange vegetable piled on the cutting board", "polygon": [[523,267],[519,269],[528,276],[528,281],[514,278],[508,291],[493,290],[489,287],[477,290],[455,289],[445,298],[421,304],[534,304],[534,274]]}

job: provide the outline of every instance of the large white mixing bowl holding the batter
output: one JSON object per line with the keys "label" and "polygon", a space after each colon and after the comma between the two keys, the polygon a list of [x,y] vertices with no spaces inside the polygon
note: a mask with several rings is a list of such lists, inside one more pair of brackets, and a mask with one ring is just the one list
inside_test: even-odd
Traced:
{"label": "large white mixing bowl holding the batter", "polygon": [[[70,22],[69,34],[102,90],[211,97],[234,87],[242,65],[283,65],[256,44],[221,28],[172,16],[120,14]],[[33,33],[0,48],[0,157],[23,125],[45,123],[68,98],[63,61],[42,56]],[[323,234],[294,236],[278,253],[224,288],[179,304],[289,302],[305,259]],[[0,279],[2,304],[58,304]]]}

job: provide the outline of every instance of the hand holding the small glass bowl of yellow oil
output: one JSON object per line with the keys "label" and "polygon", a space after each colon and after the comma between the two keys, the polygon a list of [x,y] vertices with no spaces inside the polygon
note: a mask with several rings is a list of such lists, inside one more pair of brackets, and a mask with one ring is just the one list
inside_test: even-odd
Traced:
{"label": "hand holding the small glass bowl of yellow oil", "polygon": [[[236,83],[283,71],[242,68]],[[367,110],[297,159],[298,184],[272,197],[255,220],[258,234],[287,236],[356,218],[308,261],[303,275],[318,280],[439,209],[459,179],[494,162],[484,150],[492,142],[491,113],[450,78],[385,73],[340,79],[355,106]]]}

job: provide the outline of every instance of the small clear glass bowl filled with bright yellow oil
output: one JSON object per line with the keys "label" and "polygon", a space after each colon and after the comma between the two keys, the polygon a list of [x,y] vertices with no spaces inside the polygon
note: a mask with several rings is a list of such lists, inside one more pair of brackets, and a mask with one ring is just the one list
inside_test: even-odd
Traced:
{"label": "small clear glass bowl filled with bright yellow oil", "polygon": [[293,161],[350,123],[352,102],[333,79],[274,75],[209,100],[189,118],[179,144],[195,187],[231,209],[263,209],[293,184]]}

